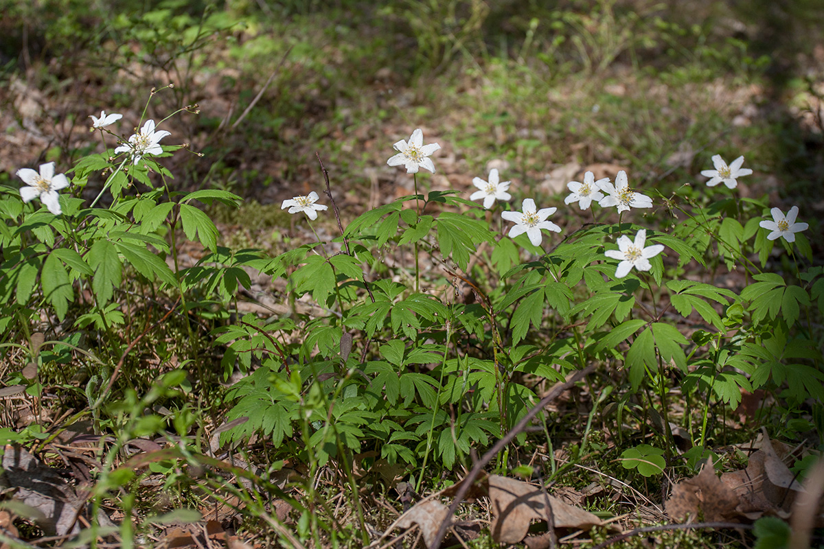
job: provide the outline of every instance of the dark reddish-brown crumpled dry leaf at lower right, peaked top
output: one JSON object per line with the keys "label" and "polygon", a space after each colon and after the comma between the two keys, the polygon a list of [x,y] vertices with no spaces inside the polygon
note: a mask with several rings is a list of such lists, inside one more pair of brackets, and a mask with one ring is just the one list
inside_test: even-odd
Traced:
{"label": "dark reddish-brown crumpled dry leaf at lower right, peaked top", "polygon": [[664,509],[677,520],[702,514],[707,522],[728,522],[737,518],[737,505],[737,495],[715,476],[710,458],[695,477],[672,486]]}

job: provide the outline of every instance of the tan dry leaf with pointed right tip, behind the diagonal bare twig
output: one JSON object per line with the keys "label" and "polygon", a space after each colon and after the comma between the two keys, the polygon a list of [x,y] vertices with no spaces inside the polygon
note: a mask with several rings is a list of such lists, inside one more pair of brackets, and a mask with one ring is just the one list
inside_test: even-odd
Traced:
{"label": "tan dry leaf with pointed right tip, behind the diagonal bare twig", "polygon": [[602,520],[578,507],[567,505],[538,486],[514,478],[489,476],[489,500],[494,515],[490,529],[494,541],[521,542],[532,519],[547,520],[549,501],[555,528],[581,528],[602,525]]}

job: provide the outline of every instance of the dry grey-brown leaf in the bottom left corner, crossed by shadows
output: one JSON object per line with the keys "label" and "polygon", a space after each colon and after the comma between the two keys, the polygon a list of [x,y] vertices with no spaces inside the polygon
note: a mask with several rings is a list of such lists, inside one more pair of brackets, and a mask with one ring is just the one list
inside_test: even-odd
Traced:
{"label": "dry grey-brown leaf in the bottom left corner, crossed by shadows", "polygon": [[0,488],[15,488],[14,498],[43,515],[36,522],[49,536],[77,533],[75,523],[85,500],[63,477],[25,449],[7,445],[0,460]]}

